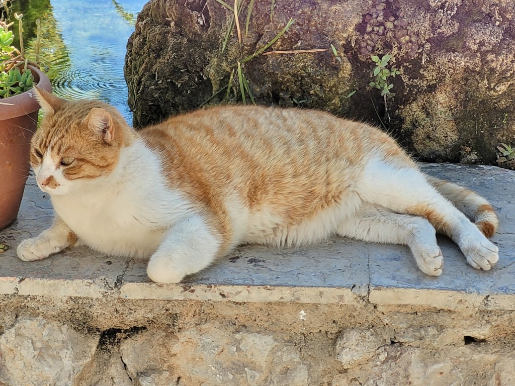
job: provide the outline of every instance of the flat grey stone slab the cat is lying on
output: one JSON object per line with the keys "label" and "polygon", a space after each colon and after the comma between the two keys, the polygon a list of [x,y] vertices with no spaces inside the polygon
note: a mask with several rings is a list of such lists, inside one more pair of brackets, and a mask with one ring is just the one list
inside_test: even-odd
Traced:
{"label": "flat grey stone slab the cat is lying on", "polygon": [[423,169],[477,191],[495,207],[501,226],[492,240],[501,258],[492,270],[468,266],[457,246],[445,237],[439,238],[444,271],[436,278],[418,270],[407,247],[337,237],[287,250],[244,245],[177,285],[151,283],[145,262],[84,247],[23,262],[16,257],[18,243],[39,234],[53,218],[48,196],[31,177],[18,219],[0,231],[0,243],[10,247],[0,254],[0,294],[515,309],[515,172],[451,164],[426,164]]}

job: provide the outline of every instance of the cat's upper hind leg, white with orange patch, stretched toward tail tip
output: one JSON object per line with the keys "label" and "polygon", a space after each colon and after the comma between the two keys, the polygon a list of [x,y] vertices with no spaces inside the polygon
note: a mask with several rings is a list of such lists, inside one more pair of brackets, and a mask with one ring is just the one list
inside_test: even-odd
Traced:
{"label": "cat's upper hind leg, white with orange patch, stretched toward tail tip", "polygon": [[371,160],[362,188],[362,198],[369,204],[426,218],[437,232],[458,244],[472,267],[489,270],[499,260],[499,249],[441,196],[419,170]]}

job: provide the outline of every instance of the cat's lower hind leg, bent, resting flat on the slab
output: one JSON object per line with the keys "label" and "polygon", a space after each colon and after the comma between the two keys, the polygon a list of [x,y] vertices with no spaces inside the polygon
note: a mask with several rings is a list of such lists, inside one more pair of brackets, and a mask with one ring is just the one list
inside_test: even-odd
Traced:
{"label": "cat's lower hind leg, bent, resting flat on the slab", "polygon": [[436,231],[419,216],[390,213],[384,208],[364,205],[338,227],[340,236],[386,244],[408,245],[422,272],[442,273],[443,256],[436,243]]}

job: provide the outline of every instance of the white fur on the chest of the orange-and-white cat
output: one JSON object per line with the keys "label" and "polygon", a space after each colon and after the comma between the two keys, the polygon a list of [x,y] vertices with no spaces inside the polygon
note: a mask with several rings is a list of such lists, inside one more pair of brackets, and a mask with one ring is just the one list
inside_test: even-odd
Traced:
{"label": "white fur on the chest of the orange-and-white cat", "polygon": [[190,212],[188,202],[166,187],[155,154],[139,142],[124,149],[117,169],[94,186],[52,197],[52,203],[70,229],[102,253],[148,257]]}

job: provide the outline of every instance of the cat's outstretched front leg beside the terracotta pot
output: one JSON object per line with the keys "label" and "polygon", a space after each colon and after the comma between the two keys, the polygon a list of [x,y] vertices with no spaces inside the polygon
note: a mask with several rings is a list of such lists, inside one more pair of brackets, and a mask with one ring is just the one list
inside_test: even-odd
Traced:
{"label": "cat's outstretched front leg beside the terracotta pot", "polygon": [[36,237],[23,240],[18,245],[16,254],[23,261],[41,260],[77,243],[77,235],[56,215],[54,224],[49,229]]}

